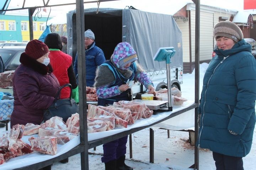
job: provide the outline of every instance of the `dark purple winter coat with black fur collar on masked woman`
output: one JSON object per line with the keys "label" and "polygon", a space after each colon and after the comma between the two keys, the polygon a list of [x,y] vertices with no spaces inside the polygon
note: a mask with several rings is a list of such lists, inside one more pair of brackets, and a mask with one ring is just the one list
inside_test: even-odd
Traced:
{"label": "dark purple winter coat with black fur collar on masked woman", "polygon": [[20,66],[15,70],[13,82],[14,110],[11,127],[16,124],[39,125],[43,120],[43,110],[54,100],[59,82],[52,73],[52,66],[42,63],[22,53]]}

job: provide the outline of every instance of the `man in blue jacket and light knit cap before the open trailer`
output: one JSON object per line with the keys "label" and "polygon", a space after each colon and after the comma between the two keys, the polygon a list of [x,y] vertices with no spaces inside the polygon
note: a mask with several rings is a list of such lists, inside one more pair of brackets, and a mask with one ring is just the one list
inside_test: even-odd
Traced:
{"label": "man in blue jacket and light knit cap before the open trailer", "polygon": [[[85,31],[85,57],[86,57],[86,86],[93,87],[96,68],[106,61],[103,51],[95,45],[94,33]],[[78,78],[78,54],[76,53],[74,72]]]}

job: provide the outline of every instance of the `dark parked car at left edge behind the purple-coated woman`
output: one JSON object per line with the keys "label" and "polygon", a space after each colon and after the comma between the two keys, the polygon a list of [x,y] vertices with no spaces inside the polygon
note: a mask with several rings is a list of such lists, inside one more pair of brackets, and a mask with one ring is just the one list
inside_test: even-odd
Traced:
{"label": "dark parked car at left edge behind the purple-coated woman", "polygon": [[20,65],[20,56],[25,48],[26,46],[0,47],[0,73],[15,70]]}

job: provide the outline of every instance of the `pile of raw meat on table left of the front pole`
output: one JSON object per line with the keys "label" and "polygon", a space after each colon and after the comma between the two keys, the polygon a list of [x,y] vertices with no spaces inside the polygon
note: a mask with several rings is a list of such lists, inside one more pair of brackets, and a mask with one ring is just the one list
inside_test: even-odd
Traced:
{"label": "pile of raw meat on table left of the front pole", "polygon": [[[22,136],[38,134],[30,137],[31,146],[21,140]],[[72,114],[66,123],[60,117],[52,117],[41,125],[32,123],[15,125],[10,132],[0,137],[0,164],[10,158],[37,151],[55,155],[57,144],[64,145],[79,135],[79,114]]]}

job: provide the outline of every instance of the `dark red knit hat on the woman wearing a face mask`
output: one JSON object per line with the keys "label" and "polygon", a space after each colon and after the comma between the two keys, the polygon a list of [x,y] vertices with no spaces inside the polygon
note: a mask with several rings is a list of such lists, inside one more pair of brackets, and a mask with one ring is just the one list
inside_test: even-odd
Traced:
{"label": "dark red knit hat on the woman wearing a face mask", "polygon": [[25,49],[26,55],[35,60],[47,54],[48,52],[49,49],[47,45],[45,45],[42,41],[39,40],[31,40],[30,42],[28,42]]}

